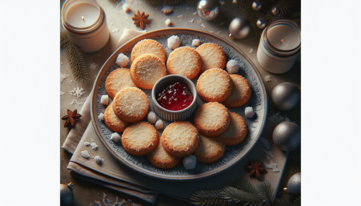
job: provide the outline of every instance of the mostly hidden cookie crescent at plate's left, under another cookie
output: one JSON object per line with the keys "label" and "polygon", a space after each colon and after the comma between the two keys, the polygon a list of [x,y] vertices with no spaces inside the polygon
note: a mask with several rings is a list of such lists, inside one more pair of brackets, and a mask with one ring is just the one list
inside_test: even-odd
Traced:
{"label": "mostly hidden cookie crescent at plate's left, under another cookie", "polygon": [[113,102],[108,105],[104,113],[104,123],[113,132],[124,132],[125,128],[129,126],[129,123],[120,120],[113,112]]}

